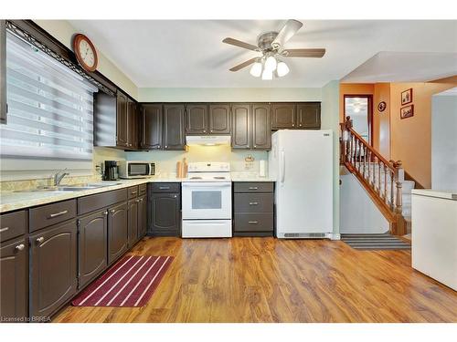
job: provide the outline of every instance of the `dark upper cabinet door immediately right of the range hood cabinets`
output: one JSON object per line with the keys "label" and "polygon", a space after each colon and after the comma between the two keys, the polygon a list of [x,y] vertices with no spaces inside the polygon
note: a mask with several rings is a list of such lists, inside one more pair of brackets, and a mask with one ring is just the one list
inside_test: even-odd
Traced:
{"label": "dark upper cabinet door immediately right of the range hood cabinets", "polygon": [[231,110],[231,147],[233,150],[250,149],[250,104],[233,105]]}

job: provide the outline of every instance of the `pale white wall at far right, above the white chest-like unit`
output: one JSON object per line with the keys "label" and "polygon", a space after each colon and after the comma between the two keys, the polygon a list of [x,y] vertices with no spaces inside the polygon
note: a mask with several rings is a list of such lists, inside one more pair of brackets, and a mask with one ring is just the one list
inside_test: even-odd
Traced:
{"label": "pale white wall at far right, above the white chest-like unit", "polygon": [[431,98],[431,188],[457,190],[457,88]]}

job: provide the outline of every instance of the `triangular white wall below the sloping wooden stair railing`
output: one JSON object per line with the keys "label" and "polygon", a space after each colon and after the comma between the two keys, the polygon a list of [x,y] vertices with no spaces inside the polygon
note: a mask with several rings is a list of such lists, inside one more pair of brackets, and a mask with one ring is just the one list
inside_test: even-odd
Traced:
{"label": "triangular white wall below the sloping wooden stair railing", "polygon": [[340,233],[386,233],[386,218],[356,177],[341,168]]}

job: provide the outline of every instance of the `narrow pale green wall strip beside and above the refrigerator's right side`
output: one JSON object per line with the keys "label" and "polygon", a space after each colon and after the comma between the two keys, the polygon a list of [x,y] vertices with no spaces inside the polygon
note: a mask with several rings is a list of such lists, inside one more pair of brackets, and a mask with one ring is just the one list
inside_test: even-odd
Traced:
{"label": "narrow pale green wall strip beside and above the refrigerator's right side", "polygon": [[322,88],[321,127],[323,130],[334,131],[334,235],[340,233],[340,188],[339,188],[339,158],[340,158],[340,128],[339,128],[339,82],[331,81]]}

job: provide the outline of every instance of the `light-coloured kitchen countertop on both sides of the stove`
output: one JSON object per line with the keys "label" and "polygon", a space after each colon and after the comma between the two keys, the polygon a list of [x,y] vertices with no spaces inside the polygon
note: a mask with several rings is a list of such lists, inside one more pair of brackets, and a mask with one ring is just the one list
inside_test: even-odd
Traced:
{"label": "light-coloured kitchen countertop on both sides of the stove", "polygon": [[[23,192],[0,192],[0,212],[11,212],[18,209],[25,209],[37,205],[48,204],[51,202],[59,202],[70,200],[82,196],[88,196],[95,193],[111,192],[129,186],[139,185],[148,182],[173,182],[173,181],[186,181],[183,178],[175,177],[150,177],[136,180],[120,180],[120,181],[107,181],[115,182],[116,185],[104,186],[100,188],[81,190],[74,192],[37,192],[37,191],[23,191]],[[256,177],[252,175],[235,175],[232,176],[232,181],[273,181],[265,177]],[[93,183],[102,183],[102,181],[94,181]],[[66,186],[66,184],[62,184]],[[70,185],[69,185],[70,186]]]}

